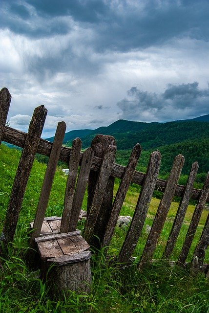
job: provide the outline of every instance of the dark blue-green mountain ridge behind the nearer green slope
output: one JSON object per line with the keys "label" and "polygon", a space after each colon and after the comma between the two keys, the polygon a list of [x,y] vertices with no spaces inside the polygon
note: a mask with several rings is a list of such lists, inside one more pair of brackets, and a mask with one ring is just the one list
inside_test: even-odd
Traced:
{"label": "dark blue-green mountain ridge behind the nearer green slope", "polygon": [[[178,122],[178,123],[177,123]],[[119,150],[132,148],[137,142],[143,149],[179,143],[185,140],[209,138],[209,114],[188,120],[167,123],[144,123],[120,119],[109,126],[96,130],[78,130],[65,134],[63,143],[71,145],[74,138],[80,137],[83,148],[90,146],[96,134],[109,134],[115,137]],[[53,141],[53,137],[47,140]]]}

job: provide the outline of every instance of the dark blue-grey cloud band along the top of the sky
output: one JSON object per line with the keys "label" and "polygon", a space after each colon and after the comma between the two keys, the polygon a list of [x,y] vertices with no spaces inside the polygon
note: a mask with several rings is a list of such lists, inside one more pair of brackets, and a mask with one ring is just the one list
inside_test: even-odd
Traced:
{"label": "dark blue-grey cloud band along the top of the sky", "polygon": [[[182,36],[209,40],[208,0],[2,2],[1,27],[26,36],[47,37],[70,32],[69,20],[63,20],[68,17],[77,27],[92,30],[94,36],[88,44],[98,52],[146,48]],[[37,19],[42,19],[42,27]]]}

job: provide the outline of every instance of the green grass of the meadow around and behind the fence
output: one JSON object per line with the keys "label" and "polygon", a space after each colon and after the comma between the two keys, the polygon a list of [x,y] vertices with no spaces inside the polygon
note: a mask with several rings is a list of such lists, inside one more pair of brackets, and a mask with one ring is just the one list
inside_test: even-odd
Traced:
{"label": "green grass of the meadow around and behind the fence", "polygon": [[[3,224],[12,182],[16,173],[20,153],[0,146],[0,226]],[[209,280],[203,274],[191,275],[183,268],[169,267],[166,261],[157,261],[139,269],[137,261],[146,243],[146,225],[134,251],[135,263],[128,267],[113,265],[106,261],[104,249],[93,253],[91,259],[92,286],[91,292],[77,294],[69,291],[59,297],[49,296],[48,286],[40,278],[40,271],[31,271],[24,263],[24,255],[28,249],[28,225],[35,216],[45,166],[34,162],[27,184],[21,215],[14,242],[7,259],[0,259],[0,313],[209,313]],[[47,216],[61,216],[66,177],[58,170],[54,180]],[[115,193],[119,186],[116,179]],[[139,187],[129,188],[121,215],[133,215],[139,196]],[[152,198],[146,223],[151,225],[157,210],[159,199]],[[172,202],[154,258],[159,259],[163,253],[167,236],[173,223],[178,203]],[[86,197],[83,208],[86,207]],[[185,222],[172,254],[178,258],[183,244],[188,223],[194,205],[188,206]],[[194,245],[189,251],[188,260],[197,243],[207,212],[204,211],[195,234]],[[84,222],[79,224],[83,229]],[[116,228],[110,255],[117,255],[127,233],[127,228]],[[206,261],[209,259],[207,250]]]}

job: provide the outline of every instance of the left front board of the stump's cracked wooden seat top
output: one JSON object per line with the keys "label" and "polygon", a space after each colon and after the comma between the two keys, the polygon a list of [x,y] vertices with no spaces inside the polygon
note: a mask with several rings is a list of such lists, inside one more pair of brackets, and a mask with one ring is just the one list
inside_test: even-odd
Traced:
{"label": "left front board of the stump's cracked wooden seat top", "polygon": [[38,243],[39,253],[43,260],[63,256],[63,251],[57,243],[57,240],[48,240]]}

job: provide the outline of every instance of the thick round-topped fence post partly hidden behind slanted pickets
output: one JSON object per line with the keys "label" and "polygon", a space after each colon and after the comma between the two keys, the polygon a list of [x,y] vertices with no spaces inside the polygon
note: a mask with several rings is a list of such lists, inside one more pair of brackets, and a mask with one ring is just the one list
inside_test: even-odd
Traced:
{"label": "thick round-topped fence post partly hidden behind slanted pickets", "polygon": [[[100,158],[104,157],[104,152],[106,151],[109,145],[115,146],[116,141],[115,138],[109,135],[102,135],[98,134],[92,140],[91,148],[94,151],[94,156],[98,156]],[[88,215],[91,207],[91,203],[93,201],[94,192],[96,189],[96,182],[99,173],[95,171],[90,171],[89,181],[88,181],[88,200],[87,200],[87,220]],[[105,226],[109,220],[111,209],[112,209],[112,200],[113,200],[113,188],[114,188],[114,177],[110,177],[108,179],[108,183],[105,189],[103,202],[101,203],[102,210],[99,212],[99,216],[97,219],[97,224],[94,228],[94,235],[96,237],[92,237],[90,244],[97,248],[100,248],[101,243],[103,242],[104,233],[105,233]]]}

